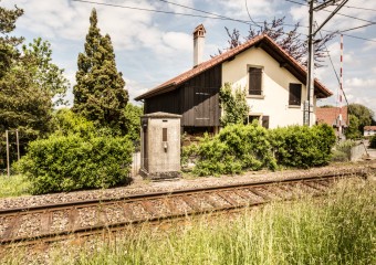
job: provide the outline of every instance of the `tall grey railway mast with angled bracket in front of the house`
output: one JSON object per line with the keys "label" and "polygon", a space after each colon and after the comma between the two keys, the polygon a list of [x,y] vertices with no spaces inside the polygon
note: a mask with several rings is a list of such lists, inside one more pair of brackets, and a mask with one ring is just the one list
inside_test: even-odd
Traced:
{"label": "tall grey railway mast with angled bracket in front of the house", "polygon": [[[323,3],[314,7],[314,2],[316,0],[310,1],[310,26],[309,26],[309,60],[307,60],[307,77],[306,77],[306,91],[307,91],[307,100],[304,103],[304,115],[303,115],[303,124],[307,126],[312,126],[314,124],[313,119],[313,98],[314,98],[314,39],[316,33],[333,18],[333,15],[338,12],[338,10],[346,4],[348,0],[326,0]],[[320,11],[324,8],[327,8],[331,4],[335,4],[340,2],[336,9],[325,19],[325,21],[317,26],[317,29],[313,28],[313,15],[315,11]]]}

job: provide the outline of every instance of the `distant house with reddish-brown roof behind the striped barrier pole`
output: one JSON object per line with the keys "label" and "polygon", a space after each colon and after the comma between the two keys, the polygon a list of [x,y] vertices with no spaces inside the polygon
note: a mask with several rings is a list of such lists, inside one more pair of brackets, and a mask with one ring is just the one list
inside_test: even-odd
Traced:
{"label": "distant house with reddish-brown roof behind the striped barrier pole", "polygon": [[316,124],[327,124],[333,127],[338,138],[344,138],[348,127],[348,112],[345,107],[318,107],[316,108]]}

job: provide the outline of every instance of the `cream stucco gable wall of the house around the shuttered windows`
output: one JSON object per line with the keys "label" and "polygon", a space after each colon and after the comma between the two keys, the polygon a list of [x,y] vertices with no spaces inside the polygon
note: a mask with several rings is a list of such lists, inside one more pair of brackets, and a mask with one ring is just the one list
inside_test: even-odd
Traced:
{"label": "cream stucco gable wall of the house around the shuttered windows", "polygon": [[[261,47],[251,47],[237,55],[234,60],[222,63],[222,85],[232,83],[248,92],[250,66],[262,67],[263,97],[249,96],[247,102],[250,115],[269,116],[269,128],[288,125],[303,125],[303,104],[306,99],[306,87],[295,76],[271,57]],[[302,84],[301,106],[289,106],[289,84]],[[316,100],[314,99],[314,106]],[[315,117],[314,117],[315,120]]]}

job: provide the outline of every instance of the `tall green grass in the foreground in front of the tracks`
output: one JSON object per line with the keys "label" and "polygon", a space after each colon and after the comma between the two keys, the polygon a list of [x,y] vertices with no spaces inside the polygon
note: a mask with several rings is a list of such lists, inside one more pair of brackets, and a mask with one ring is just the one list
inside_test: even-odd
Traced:
{"label": "tall green grass in the foreground in front of the tracks", "polygon": [[[94,247],[55,247],[48,263],[376,264],[375,188],[352,181],[325,199],[272,203],[231,219],[201,216],[158,232],[134,230],[116,242],[97,240]],[[24,261],[14,253],[3,262]]]}

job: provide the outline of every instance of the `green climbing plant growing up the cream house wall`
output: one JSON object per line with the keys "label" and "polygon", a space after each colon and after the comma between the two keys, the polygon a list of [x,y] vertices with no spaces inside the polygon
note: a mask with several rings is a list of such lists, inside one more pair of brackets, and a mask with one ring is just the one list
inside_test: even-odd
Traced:
{"label": "green climbing plant growing up the cream house wall", "polygon": [[250,110],[246,95],[246,91],[241,87],[233,91],[230,83],[226,83],[220,88],[219,100],[223,109],[223,115],[220,119],[221,126],[244,123]]}

